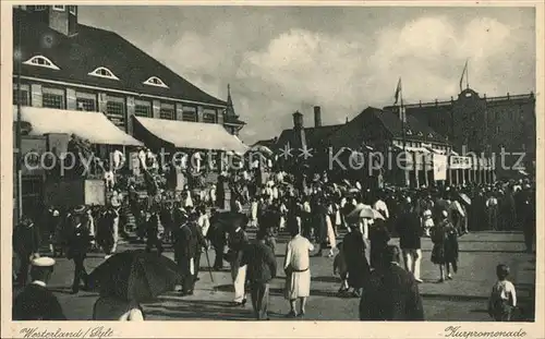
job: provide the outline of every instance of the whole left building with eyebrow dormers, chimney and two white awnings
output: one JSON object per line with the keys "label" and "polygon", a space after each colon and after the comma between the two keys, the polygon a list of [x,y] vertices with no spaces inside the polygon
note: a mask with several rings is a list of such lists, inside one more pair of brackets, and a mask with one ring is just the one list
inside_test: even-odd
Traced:
{"label": "whole left building with eyebrow dormers, chimney and two white awnings", "polygon": [[[117,33],[80,24],[77,16],[76,5],[13,9],[14,117],[26,131],[15,164],[31,154],[59,155],[72,134],[100,157],[143,144],[154,150],[245,149],[238,138],[245,123],[230,88],[227,100],[211,96]],[[19,209],[36,209],[46,195],[46,172],[23,166],[21,181]]]}

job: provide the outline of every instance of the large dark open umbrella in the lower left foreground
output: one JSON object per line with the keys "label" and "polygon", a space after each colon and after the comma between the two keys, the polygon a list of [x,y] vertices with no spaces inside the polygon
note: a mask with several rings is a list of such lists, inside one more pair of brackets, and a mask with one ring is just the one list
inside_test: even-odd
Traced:
{"label": "large dark open umbrella in the lower left foreground", "polygon": [[181,279],[182,271],[168,257],[135,250],[108,258],[90,273],[88,282],[101,294],[144,302],[172,291]]}

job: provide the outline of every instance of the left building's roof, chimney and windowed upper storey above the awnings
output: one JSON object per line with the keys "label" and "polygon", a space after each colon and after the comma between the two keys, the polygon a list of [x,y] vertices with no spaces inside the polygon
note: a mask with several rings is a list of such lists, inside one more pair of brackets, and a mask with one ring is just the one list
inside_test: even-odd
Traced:
{"label": "left building's roof, chimney and windowed upper storey above the awnings", "polygon": [[230,93],[225,101],[203,92],[117,33],[80,24],[77,11],[14,9],[14,104],[20,74],[23,106],[104,112],[129,134],[132,117],[216,123],[235,135],[244,125]]}

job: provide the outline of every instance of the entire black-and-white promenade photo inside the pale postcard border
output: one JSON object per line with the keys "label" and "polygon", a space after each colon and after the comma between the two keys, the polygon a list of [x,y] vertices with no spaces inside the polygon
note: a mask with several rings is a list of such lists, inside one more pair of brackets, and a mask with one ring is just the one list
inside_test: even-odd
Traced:
{"label": "entire black-and-white promenade photo inside the pale postcard border", "polygon": [[535,322],[535,7],[11,10],[13,320]]}

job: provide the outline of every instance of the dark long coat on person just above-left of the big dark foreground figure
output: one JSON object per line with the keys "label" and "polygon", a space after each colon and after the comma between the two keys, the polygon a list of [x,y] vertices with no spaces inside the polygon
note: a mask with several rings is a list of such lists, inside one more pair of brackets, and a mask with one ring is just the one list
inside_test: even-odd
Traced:
{"label": "dark long coat on person just above-left of the big dark foreground figure", "polygon": [[370,275],[370,264],[365,252],[370,244],[363,239],[359,230],[344,235],[342,251],[348,267],[348,284],[353,288],[362,288]]}

